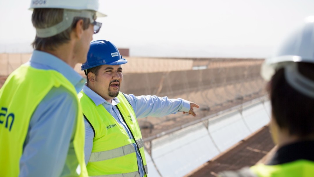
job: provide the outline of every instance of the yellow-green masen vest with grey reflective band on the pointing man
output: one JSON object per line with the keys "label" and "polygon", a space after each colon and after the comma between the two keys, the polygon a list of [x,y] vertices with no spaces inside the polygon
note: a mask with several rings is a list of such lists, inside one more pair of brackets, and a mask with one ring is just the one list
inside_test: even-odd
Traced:
{"label": "yellow-green masen vest with grey reflective band on the pointing man", "polygon": [[134,113],[134,110],[123,93],[118,97],[116,106],[134,139],[130,139],[126,130],[104,108],[95,103],[83,92],[78,94],[85,118],[95,130],[93,149],[87,171],[90,176],[113,175],[115,177],[139,177],[138,163],[133,143],[137,144],[147,175],[147,165],[144,154],[144,142]]}

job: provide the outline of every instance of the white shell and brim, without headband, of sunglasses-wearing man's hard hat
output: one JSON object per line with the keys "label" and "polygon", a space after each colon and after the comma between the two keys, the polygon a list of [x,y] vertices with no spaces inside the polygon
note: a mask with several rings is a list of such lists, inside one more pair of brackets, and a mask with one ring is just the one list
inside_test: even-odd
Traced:
{"label": "white shell and brim, without headband, of sunglasses-wearing man's hard hat", "polygon": [[98,10],[98,0],[31,0],[30,10],[34,8],[64,8],[72,10],[93,10],[97,17],[105,17],[106,14]]}

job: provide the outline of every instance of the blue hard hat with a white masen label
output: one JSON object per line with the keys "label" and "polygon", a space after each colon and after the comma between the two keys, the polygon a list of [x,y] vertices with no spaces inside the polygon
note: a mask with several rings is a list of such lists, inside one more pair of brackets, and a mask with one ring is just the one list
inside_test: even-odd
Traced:
{"label": "blue hard hat with a white masen label", "polygon": [[122,58],[117,47],[110,41],[98,40],[90,43],[87,61],[82,64],[82,70],[108,64],[125,64],[127,60]]}

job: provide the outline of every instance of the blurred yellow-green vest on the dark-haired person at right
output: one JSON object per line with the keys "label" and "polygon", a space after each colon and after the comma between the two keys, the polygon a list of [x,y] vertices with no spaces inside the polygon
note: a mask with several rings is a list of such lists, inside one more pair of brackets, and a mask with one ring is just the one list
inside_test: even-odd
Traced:
{"label": "blurred yellow-green vest on the dark-haired person at right", "polygon": [[301,159],[278,165],[258,164],[250,170],[258,177],[313,177],[314,162]]}

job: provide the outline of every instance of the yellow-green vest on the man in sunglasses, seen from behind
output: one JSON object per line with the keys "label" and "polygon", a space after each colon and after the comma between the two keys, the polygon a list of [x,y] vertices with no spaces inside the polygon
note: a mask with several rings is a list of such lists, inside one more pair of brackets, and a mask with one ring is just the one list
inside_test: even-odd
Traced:
{"label": "yellow-green vest on the man in sunglasses, seen from behind", "polygon": [[[19,175],[19,160],[30,118],[51,88],[60,86],[68,89],[73,99],[76,99],[74,86],[55,70],[22,65],[9,75],[0,89],[0,176]],[[84,120],[79,104],[76,122],[74,151],[80,166],[80,176],[88,176],[84,161]]]}

